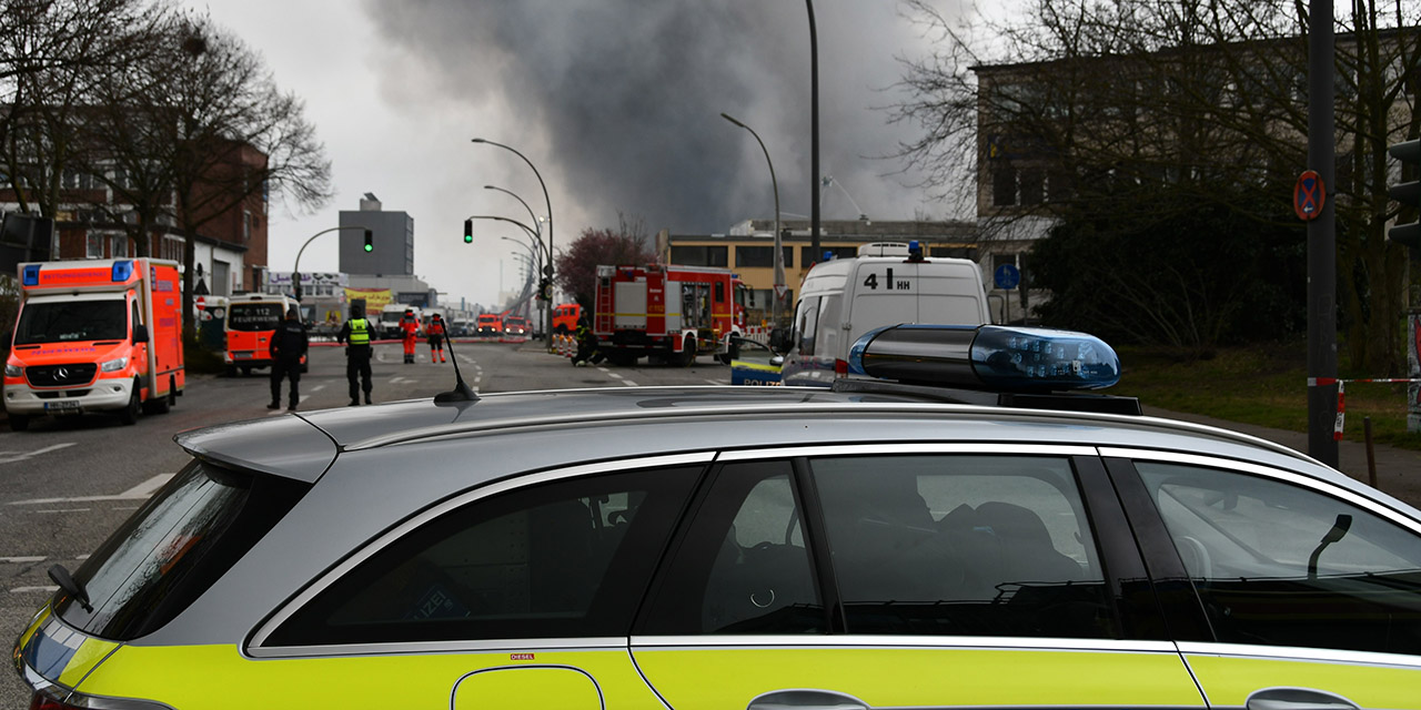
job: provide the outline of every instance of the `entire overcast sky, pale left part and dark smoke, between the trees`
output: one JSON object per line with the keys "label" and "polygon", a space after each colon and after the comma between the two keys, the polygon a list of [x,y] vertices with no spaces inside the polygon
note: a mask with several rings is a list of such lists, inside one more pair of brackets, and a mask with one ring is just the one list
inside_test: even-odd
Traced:
{"label": "entire overcast sky, pale left part and dark smoke, between the trees", "polygon": [[[334,165],[337,197],[313,216],[280,207],[270,267],[290,270],[301,243],[374,192],[415,219],[415,273],[455,301],[492,302],[514,280],[507,187],[541,214],[543,195],[516,146],[543,173],[556,246],[618,210],[648,230],[719,233],[773,203],[764,158],[730,114],[764,139],[782,209],[809,213],[809,31],[796,0],[210,0],[223,26],[259,50],[279,84],[301,95]],[[942,0],[942,9],[955,0]],[[821,170],[875,219],[946,209],[878,159],[907,139],[880,111],[894,101],[897,55],[926,43],[895,0],[818,0]],[[855,217],[824,192],[826,219]],[[331,241],[324,241],[330,239]],[[337,267],[334,236],[303,270]]]}

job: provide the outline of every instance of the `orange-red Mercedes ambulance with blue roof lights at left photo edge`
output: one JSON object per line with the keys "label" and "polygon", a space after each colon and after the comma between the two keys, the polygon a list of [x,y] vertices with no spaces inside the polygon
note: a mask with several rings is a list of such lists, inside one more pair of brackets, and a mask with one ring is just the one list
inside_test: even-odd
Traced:
{"label": "orange-red Mercedes ambulance with blue roof lights at left photo edge", "polygon": [[36,416],[168,412],[185,386],[176,261],[20,264],[21,304],[4,366],[10,429]]}

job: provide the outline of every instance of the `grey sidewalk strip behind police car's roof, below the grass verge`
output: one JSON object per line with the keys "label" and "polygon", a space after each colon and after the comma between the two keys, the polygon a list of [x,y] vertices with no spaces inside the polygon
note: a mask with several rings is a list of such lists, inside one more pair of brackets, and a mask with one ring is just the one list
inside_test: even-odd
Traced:
{"label": "grey sidewalk strip behind police car's roof, below the grass verge", "polygon": [[[1219,429],[1229,429],[1307,453],[1307,435],[1303,432],[1285,432],[1282,429],[1269,429],[1266,426],[1241,425],[1238,422],[1225,422],[1209,416],[1167,412],[1152,406],[1145,406],[1144,410],[1148,416],[1178,419],[1181,422],[1194,422],[1199,425],[1216,426]],[[1360,430],[1361,417],[1349,416],[1347,427],[1356,427]],[[1374,444],[1373,457],[1377,462],[1377,487],[1411,506],[1421,508],[1421,452]],[[1367,483],[1367,444],[1358,442],[1339,442],[1337,459],[1339,470],[1361,483]]]}

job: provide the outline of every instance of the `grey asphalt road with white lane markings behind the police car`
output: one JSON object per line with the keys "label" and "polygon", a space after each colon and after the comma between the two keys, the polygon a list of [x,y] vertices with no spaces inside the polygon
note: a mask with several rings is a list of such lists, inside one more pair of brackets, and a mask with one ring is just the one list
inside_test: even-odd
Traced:
{"label": "grey asphalt road with white lane markings behind the police car", "polygon": [[[453,345],[459,368],[482,392],[587,386],[725,385],[729,369],[710,358],[689,368],[573,368],[540,344],[469,342]],[[374,400],[428,398],[455,383],[452,364],[405,365],[398,345],[377,345],[372,362]],[[40,417],[28,432],[0,433],[0,643],[6,650],[30,616],[53,594],[50,565],[74,569],[144,500],[171,479],[188,456],[175,433],[225,422],[283,416],[266,409],[266,371],[250,376],[192,376],[178,406],[166,415],[144,416],[124,426],[115,416]],[[341,348],[311,349],[301,378],[300,410],[347,406],[345,358]],[[287,390],[283,389],[283,406]],[[9,666],[9,665],[7,665]],[[0,709],[28,707],[28,692],[13,667],[0,669]]]}

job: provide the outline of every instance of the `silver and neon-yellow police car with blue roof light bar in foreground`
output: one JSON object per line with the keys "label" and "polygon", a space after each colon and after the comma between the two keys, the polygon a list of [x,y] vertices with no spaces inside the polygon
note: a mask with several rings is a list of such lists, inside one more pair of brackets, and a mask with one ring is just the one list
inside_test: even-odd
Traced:
{"label": "silver and neon-yellow police car with blue roof light bar in foreground", "polygon": [[[895,327],[836,389],[436,398],[178,436],[18,639],[36,709],[1421,709],[1421,511]],[[890,379],[892,382],[890,382]]]}

